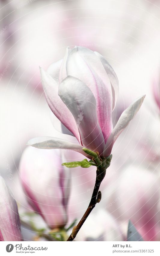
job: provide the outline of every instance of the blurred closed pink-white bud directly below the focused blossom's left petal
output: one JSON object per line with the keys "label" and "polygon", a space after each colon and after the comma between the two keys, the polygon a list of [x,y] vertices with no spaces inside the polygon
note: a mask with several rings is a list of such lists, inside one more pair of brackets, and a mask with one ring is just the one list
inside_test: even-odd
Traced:
{"label": "blurred closed pink-white bud directly below the focused blossom's left petal", "polygon": [[65,226],[70,194],[70,169],[60,150],[26,148],[20,161],[20,179],[27,201],[50,228]]}

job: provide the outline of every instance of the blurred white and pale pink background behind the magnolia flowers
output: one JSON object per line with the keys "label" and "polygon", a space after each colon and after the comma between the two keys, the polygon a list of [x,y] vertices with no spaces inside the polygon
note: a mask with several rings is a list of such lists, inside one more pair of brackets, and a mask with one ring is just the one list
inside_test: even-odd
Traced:
{"label": "blurred white and pale pink background behind the magnolia flowers", "polygon": [[[77,240],[125,240],[131,220],[144,240],[159,241],[160,2],[1,0],[0,13],[0,173],[20,215],[30,209],[19,173],[26,143],[32,137],[59,137],[59,123],[44,98],[39,66],[47,70],[63,58],[67,46],[84,46],[104,55],[119,79],[114,124],[135,98],[143,94],[146,98],[114,144],[101,202]],[[78,153],[68,154],[68,160],[81,159]],[[89,204],[95,168],[75,168],[71,175],[69,223],[79,219]],[[43,225],[41,217],[33,221]],[[24,227],[23,235],[34,240],[36,234]]]}

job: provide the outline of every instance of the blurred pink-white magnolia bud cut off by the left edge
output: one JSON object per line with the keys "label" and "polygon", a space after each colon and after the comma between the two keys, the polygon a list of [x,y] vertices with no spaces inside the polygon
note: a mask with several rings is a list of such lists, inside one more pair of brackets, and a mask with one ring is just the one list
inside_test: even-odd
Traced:
{"label": "blurred pink-white magnolia bud cut off by the left edge", "polygon": [[23,241],[17,203],[0,176],[0,241]]}

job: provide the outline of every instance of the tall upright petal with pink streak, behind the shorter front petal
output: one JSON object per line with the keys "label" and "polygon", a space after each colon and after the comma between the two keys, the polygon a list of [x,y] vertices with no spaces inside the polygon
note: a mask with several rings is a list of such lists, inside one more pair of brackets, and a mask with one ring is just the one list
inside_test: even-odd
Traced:
{"label": "tall upright petal with pink streak, behind the shorter front petal", "polygon": [[66,69],[67,75],[80,79],[95,96],[98,122],[106,142],[113,128],[112,89],[100,59],[85,47],[74,47],[68,53]]}

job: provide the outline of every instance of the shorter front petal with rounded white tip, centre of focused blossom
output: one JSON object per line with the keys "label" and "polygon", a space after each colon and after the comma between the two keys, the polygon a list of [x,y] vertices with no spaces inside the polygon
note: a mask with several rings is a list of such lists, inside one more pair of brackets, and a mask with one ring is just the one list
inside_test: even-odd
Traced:
{"label": "shorter front petal with rounded white tip, centre of focused blossom", "polygon": [[104,137],[92,91],[79,79],[68,76],[59,85],[59,96],[74,116],[83,146],[101,154]]}

